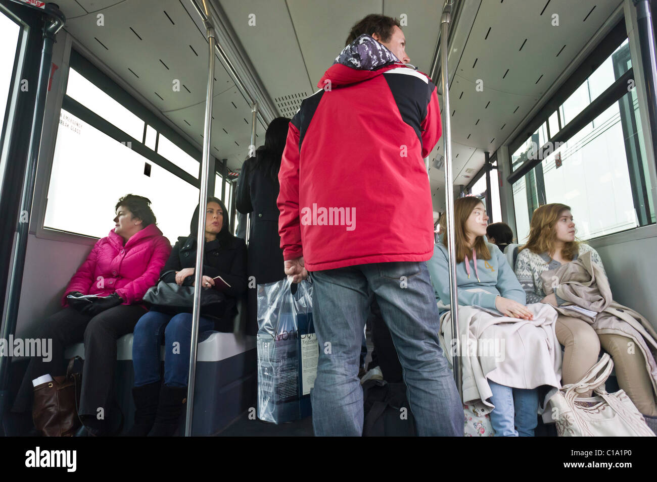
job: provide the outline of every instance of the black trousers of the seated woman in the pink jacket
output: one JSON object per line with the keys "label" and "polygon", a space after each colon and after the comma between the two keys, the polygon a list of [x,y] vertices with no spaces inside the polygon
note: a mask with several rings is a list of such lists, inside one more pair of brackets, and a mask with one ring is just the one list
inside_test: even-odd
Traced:
{"label": "black trousers of the seated woman in the pink jacket", "polygon": [[97,416],[102,408],[107,418],[112,402],[112,382],[116,367],[116,340],[133,332],[137,321],[147,311],[136,305],[120,305],[102,311],[95,317],[83,315],[73,308],[64,308],[49,316],[43,323],[39,338],[51,338],[51,361],[33,357],[16,395],[13,412],[32,410],[34,388],[32,380],[47,373],[66,375],[68,360],[64,350],[69,345],[84,341],[85,363],[82,371],[79,415]]}

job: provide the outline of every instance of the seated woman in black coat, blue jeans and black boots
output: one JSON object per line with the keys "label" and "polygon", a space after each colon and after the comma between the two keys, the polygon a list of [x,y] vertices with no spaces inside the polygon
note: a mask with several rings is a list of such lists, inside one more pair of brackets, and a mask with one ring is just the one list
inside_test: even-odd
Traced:
{"label": "seated woman in black coat, blue jeans and black boots", "polygon": [[[179,237],[160,279],[165,283],[193,286],[196,266],[198,207],[190,225],[191,234]],[[198,322],[201,334],[210,330],[233,331],[232,319],[237,298],[246,289],[246,245],[231,234],[226,207],[208,197],[202,273],[204,289],[212,289],[221,278],[230,285],[221,290],[223,301],[203,306]],[[217,287],[218,288],[218,287]],[[133,365],[135,369],[135,426],[132,436],[170,436],[187,397],[192,308],[153,306],[135,327]],[[160,382],[160,345],[164,336],[164,383]],[[199,336],[199,341],[203,337]],[[160,387],[160,384],[162,385]]]}

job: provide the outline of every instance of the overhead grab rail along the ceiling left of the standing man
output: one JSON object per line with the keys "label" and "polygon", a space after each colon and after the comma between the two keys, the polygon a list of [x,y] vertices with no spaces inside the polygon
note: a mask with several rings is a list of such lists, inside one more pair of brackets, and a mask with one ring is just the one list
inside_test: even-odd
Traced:
{"label": "overhead grab rail along the ceiling left of the standing man", "polygon": [[[225,21],[226,15],[219,5],[212,0],[189,0],[203,20],[206,28],[212,26],[215,33],[215,48],[229,75],[237,88],[252,106],[258,103],[256,111],[263,127],[269,125],[278,116],[277,110],[263,87],[255,70],[250,66],[248,58],[242,54],[242,49],[235,44],[235,33],[230,24]],[[231,56],[235,60],[231,60]],[[253,143],[252,143],[253,144]]]}

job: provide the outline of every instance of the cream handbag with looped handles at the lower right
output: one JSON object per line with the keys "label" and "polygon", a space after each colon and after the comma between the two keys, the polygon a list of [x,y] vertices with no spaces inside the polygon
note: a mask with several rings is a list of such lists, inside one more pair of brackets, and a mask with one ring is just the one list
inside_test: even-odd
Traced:
{"label": "cream handbag with looped handles at the lower right", "polygon": [[[608,393],[604,382],[614,368],[608,353],[579,382],[565,385],[550,399],[559,437],[654,437],[643,415],[623,390]],[[582,398],[581,393],[597,396]]]}

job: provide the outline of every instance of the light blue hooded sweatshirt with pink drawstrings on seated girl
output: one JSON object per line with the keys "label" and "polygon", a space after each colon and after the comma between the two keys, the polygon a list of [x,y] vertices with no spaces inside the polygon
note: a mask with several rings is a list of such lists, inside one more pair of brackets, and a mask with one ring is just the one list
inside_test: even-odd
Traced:
{"label": "light blue hooded sweatshirt with pink drawstrings on seated girl", "polygon": [[[445,306],[449,306],[449,263],[447,248],[442,239],[441,235],[438,243],[434,245],[434,255],[427,262],[436,301],[441,302],[438,306],[440,315],[448,311]],[[478,259],[473,250],[471,256],[456,266],[459,305],[481,306],[497,311],[497,296],[525,304],[526,294],[507,258],[492,243],[486,243],[486,246],[491,253],[491,259]]]}

